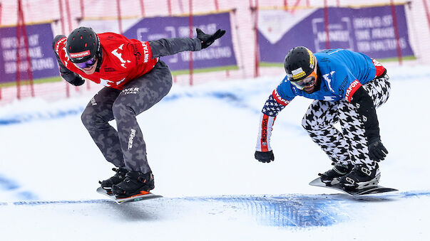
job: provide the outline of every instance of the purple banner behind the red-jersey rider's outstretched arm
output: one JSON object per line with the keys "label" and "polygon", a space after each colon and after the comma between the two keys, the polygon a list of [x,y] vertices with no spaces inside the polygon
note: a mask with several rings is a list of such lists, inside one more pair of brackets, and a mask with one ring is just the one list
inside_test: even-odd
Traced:
{"label": "purple banner behind the red-jersey rider's outstretched arm", "polygon": [[[155,41],[160,38],[189,38],[190,18],[188,16],[163,16],[143,18],[124,33],[127,38],[139,41]],[[195,28],[205,33],[215,33],[218,28],[225,29],[225,35],[215,43],[200,51],[193,52],[193,68],[196,70],[235,68],[236,58],[232,45],[230,13],[193,16],[193,38]],[[188,70],[190,68],[190,52],[160,58],[168,64],[170,70]]]}

